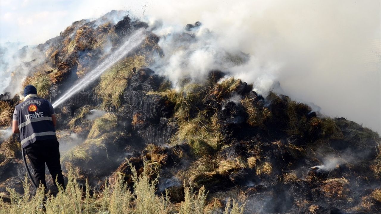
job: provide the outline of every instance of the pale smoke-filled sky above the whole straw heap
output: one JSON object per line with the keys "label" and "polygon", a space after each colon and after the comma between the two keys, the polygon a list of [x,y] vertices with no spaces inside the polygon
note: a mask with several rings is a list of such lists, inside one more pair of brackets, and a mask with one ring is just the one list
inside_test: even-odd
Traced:
{"label": "pale smoke-filled sky above the whole straw heap", "polygon": [[249,53],[235,76],[381,133],[381,1],[0,0],[0,48],[37,45],[72,22],[125,10],[162,35],[201,21],[225,50]]}

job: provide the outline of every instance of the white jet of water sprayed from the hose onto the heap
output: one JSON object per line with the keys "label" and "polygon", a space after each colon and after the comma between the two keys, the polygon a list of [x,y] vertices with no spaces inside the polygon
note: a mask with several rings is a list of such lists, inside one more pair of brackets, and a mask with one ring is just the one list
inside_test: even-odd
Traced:
{"label": "white jet of water sprayed from the hose onto the heap", "polygon": [[53,103],[53,107],[56,108],[58,105],[62,104],[62,102],[69,99],[75,93],[80,91],[81,89],[88,86],[94,80],[101,76],[103,72],[109,69],[112,65],[122,59],[126,54],[128,54],[131,50],[133,50],[137,45],[139,45],[144,37],[144,30],[137,30],[134,32],[128,40],[123,43],[122,46],[118,48],[114,53],[112,53],[107,59],[105,59],[101,64],[99,64],[95,69],[91,72],[87,73],[85,77],[83,77],[77,84],[75,84],[72,88],[70,88],[65,94],[63,94],[59,99],[57,99]]}

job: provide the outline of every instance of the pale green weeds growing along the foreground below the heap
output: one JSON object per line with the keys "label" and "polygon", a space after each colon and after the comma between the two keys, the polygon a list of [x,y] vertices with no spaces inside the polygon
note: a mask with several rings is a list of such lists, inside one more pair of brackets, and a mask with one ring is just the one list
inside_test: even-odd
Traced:
{"label": "pale green weeds growing along the foreground below the heap", "polygon": [[[38,209],[43,202],[43,189],[39,188],[32,195],[29,180],[25,177],[24,194],[17,193],[14,189],[7,189],[10,203],[0,200],[0,213],[24,214],[24,213],[111,213],[111,214],[212,214],[221,210],[223,214],[243,214],[245,204],[227,199],[226,206],[222,203],[207,201],[207,190],[201,187],[195,191],[192,187],[184,189],[184,201],[178,204],[171,203],[168,198],[156,194],[158,180],[150,179],[146,174],[146,163],[141,175],[138,176],[136,169],[130,164],[132,171],[133,188],[123,182],[123,175],[116,177],[112,186],[105,182],[100,192],[90,193],[91,187],[86,181],[85,188],[81,187],[78,180],[78,172],[69,171],[66,191],[60,190],[56,196],[48,196],[45,207],[46,211]],[[168,192],[167,192],[168,195]]]}

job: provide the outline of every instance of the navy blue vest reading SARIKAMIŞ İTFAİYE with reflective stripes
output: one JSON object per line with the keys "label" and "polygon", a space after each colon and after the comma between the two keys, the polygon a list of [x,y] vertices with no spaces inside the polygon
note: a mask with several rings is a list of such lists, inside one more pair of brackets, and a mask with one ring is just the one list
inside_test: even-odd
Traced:
{"label": "navy blue vest reading SARIKAMI\u015e \u0130TFA\u0130YE with reflective stripes", "polygon": [[31,97],[18,104],[16,111],[23,148],[35,141],[57,139],[48,100]]}

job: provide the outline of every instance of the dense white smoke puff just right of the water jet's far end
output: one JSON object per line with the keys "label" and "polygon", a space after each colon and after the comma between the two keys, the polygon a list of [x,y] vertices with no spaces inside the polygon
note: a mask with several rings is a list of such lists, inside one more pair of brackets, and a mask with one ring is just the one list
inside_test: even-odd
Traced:
{"label": "dense white smoke puff just right of the water jet's far end", "polygon": [[162,26],[154,33],[161,37],[158,45],[164,56],[158,56],[152,69],[166,76],[179,87],[179,81],[190,78],[192,82],[205,81],[213,69],[233,67],[226,51],[216,43],[216,35],[203,26],[185,30],[184,26]]}

